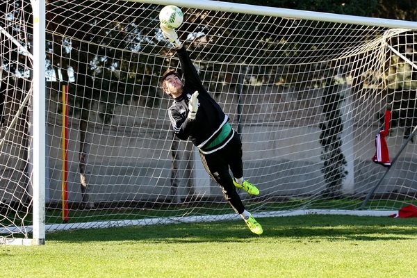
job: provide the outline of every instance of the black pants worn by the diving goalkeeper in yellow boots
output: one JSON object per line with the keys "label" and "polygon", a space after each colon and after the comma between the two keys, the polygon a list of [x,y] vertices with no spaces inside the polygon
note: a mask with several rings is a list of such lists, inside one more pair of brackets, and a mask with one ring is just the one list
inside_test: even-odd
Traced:
{"label": "black pants worn by the diving goalkeeper in yellow boots", "polygon": [[242,154],[242,142],[236,132],[234,137],[222,149],[212,154],[202,154],[200,152],[202,163],[211,179],[218,183],[220,188],[222,188],[224,199],[239,214],[245,211],[245,206],[243,206],[233,179],[229,174],[229,167],[234,177],[243,177]]}

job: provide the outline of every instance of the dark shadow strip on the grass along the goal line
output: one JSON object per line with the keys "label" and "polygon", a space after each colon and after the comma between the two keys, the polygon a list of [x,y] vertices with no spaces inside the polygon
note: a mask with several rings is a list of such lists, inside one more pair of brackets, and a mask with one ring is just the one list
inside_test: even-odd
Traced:
{"label": "dark shadow strip on the grass along the goal line", "polygon": [[48,240],[138,241],[142,243],[247,242],[270,240],[409,240],[417,239],[417,218],[389,218],[351,215],[301,215],[259,218],[263,234],[257,236],[245,222],[224,221],[115,227],[62,231],[47,234]]}

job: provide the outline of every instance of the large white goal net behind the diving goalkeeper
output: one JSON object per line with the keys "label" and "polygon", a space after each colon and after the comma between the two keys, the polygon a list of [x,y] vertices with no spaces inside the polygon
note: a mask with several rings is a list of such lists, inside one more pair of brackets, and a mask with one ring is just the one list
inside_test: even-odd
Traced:
{"label": "large white goal net behind the diving goalkeeper", "polygon": [[[172,99],[158,84],[179,60],[159,28],[166,1],[145,2],[46,3],[46,231],[238,218],[195,147],[173,136]],[[416,204],[417,24],[170,4],[184,13],[179,39],[243,141],[244,177],[261,191],[239,193],[248,211],[391,215]],[[36,55],[31,3],[1,9],[0,238],[13,243],[30,239],[39,218]]]}

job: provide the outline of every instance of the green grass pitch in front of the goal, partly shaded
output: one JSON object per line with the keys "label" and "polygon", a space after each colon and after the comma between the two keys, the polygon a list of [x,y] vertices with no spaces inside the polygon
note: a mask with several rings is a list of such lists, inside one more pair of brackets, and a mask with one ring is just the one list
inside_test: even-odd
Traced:
{"label": "green grass pitch in front of the goal, partly shaded", "polygon": [[0,277],[417,277],[417,218],[302,215],[47,234]]}

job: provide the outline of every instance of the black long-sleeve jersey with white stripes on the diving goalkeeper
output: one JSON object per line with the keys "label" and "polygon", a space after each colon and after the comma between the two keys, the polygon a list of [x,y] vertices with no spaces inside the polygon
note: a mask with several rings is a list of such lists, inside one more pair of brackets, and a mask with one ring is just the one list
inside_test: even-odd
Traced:
{"label": "black long-sleeve jersey with white stripes on the diving goalkeeper", "polygon": [[[229,117],[224,114],[222,108],[220,108],[218,103],[215,102],[202,85],[197,70],[184,47],[177,49],[177,56],[181,63],[185,83],[183,94],[174,99],[172,106],[168,108],[168,115],[175,135],[181,140],[190,138],[191,142],[204,152],[204,147],[208,146],[218,137],[224,124],[229,121]],[[188,101],[195,91],[199,92],[197,97],[199,108],[195,119],[191,120],[187,117],[189,111]],[[214,149],[211,148],[210,152],[206,153],[221,149],[230,140],[233,133],[234,131],[232,130],[225,142],[217,145]]]}

